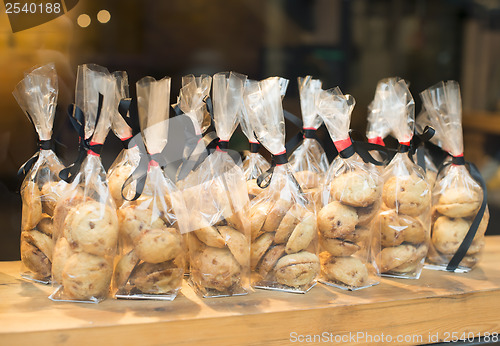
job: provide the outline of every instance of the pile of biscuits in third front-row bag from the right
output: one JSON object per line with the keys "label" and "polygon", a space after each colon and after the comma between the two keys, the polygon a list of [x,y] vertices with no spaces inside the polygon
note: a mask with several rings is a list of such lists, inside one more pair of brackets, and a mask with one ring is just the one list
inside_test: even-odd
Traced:
{"label": "pile of biscuits in third front-row bag from the right", "polygon": [[346,170],[326,186],[329,203],[318,213],[322,279],[347,288],[369,285],[371,220],[380,208],[379,176]]}

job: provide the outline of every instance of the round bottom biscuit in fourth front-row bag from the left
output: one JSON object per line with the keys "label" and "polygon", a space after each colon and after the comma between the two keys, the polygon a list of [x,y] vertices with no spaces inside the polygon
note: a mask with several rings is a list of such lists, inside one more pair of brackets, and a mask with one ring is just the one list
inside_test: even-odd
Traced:
{"label": "round bottom biscuit in fourth front-row bag from the left", "polygon": [[205,288],[223,292],[240,282],[241,266],[224,248],[207,247],[192,258],[191,277]]}

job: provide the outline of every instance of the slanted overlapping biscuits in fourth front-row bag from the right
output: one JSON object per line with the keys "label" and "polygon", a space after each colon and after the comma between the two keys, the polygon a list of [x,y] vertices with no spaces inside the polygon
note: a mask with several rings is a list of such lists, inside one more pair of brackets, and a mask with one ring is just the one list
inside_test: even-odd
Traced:
{"label": "slanted overlapping biscuits in fourth front-row bag from the right", "polygon": [[320,271],[316,215],[291,200],[263,200],[250,209],[250,266],[257,286],[307,289]]}

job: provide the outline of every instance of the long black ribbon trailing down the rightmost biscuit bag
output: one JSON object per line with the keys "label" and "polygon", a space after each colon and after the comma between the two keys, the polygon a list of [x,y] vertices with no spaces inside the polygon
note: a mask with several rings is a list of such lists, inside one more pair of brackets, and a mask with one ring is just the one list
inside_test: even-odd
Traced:
{"label": "long black ribbon trailing down the rightmost biscuit bag", "polygon": [[476,165],[474,165],[472,162],[465,161],[463,156],[456,156],[456,157],[453,156],[451,162],[447,162],[441,166],[438,172],[438,176],[441,170],[450,164],[465,166],[469,171],[471,177],[474,180],[476,180],[483,189],[483,202],[481,203],[481,207],[479,208],[479,211],[474,217],[474,220],[472,221],[472,224],[469,227],[469,231],[465,235],[464,240],[458,247],[458,250],[455,252],[448,265],[446,266],[447,271],[453,272],[458,268],[460,262],[462,262],[463,258],[467,254],[467,251],[469,250],[472,244],[472,241],[474,240],[474,237],[476,236],[477,229],[479,228],[479,224],[481,223],[484,216],[484,212],[486,211],[486,201],[488,199],[488,193],[486,191],[486,182],[484,181],[484,178],[477,169]]}

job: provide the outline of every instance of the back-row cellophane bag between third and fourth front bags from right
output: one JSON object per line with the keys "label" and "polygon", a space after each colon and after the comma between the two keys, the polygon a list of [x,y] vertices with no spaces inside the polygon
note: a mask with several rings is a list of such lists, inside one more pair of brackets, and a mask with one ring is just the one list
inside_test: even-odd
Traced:
{"label": "back-row cellophane bag between third and fourth front bags from right", "polygon": [[289,162],[306,198],[319,206],[320,186],[329,166],[325,150],[315,138],[315,132],[323,123],[316,108],[316,99],[321,91],[321,81],[313,79],[311,76],[298,77],[297,81],[304,139],[291,153]]}

